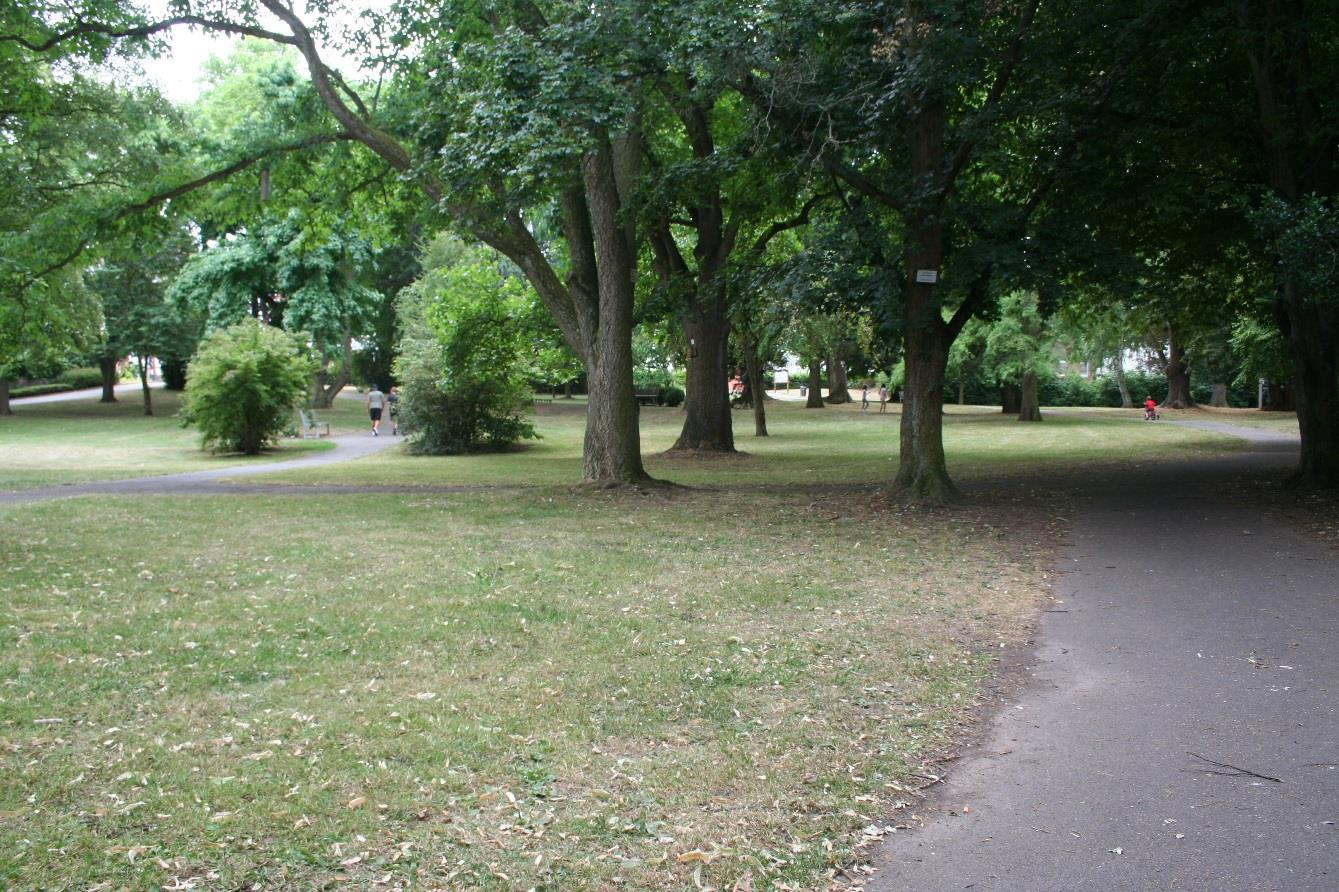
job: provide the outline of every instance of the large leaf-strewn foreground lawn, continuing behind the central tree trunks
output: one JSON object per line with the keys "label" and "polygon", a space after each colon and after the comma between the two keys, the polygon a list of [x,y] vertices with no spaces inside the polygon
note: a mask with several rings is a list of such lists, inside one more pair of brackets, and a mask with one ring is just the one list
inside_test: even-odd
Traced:
{"label": "large leaf-strewn foreground lawn, continuing behind the central tree trunks", "polygon": [[[711,461],[643,419],[694,488],[572,486],[560,404],[518,453],[283,474],[479,492],[0,506],[0,885],[826,888],[1026,640],[1059,512],[890,505],[896,415],[736,413]],[[1228,442],[947,430],[964,481]]]}

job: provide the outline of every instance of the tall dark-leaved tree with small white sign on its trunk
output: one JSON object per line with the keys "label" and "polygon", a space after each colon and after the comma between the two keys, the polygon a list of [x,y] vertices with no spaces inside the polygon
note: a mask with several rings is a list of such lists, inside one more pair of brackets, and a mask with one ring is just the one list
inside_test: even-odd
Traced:
{"label": "tall dark-leaved tree with small white sign on its trunk", "polygon": [[944,501],[948,350],[995,293],[1000,267],[1020,264],[1031,216],[1154,23],[1123,7],[1036,0],[786,11],[774,54],[783,62],[750,95],[888,216],[897,250],[884,263],[898,284],[886,301],[907,372],[894,485]]}

